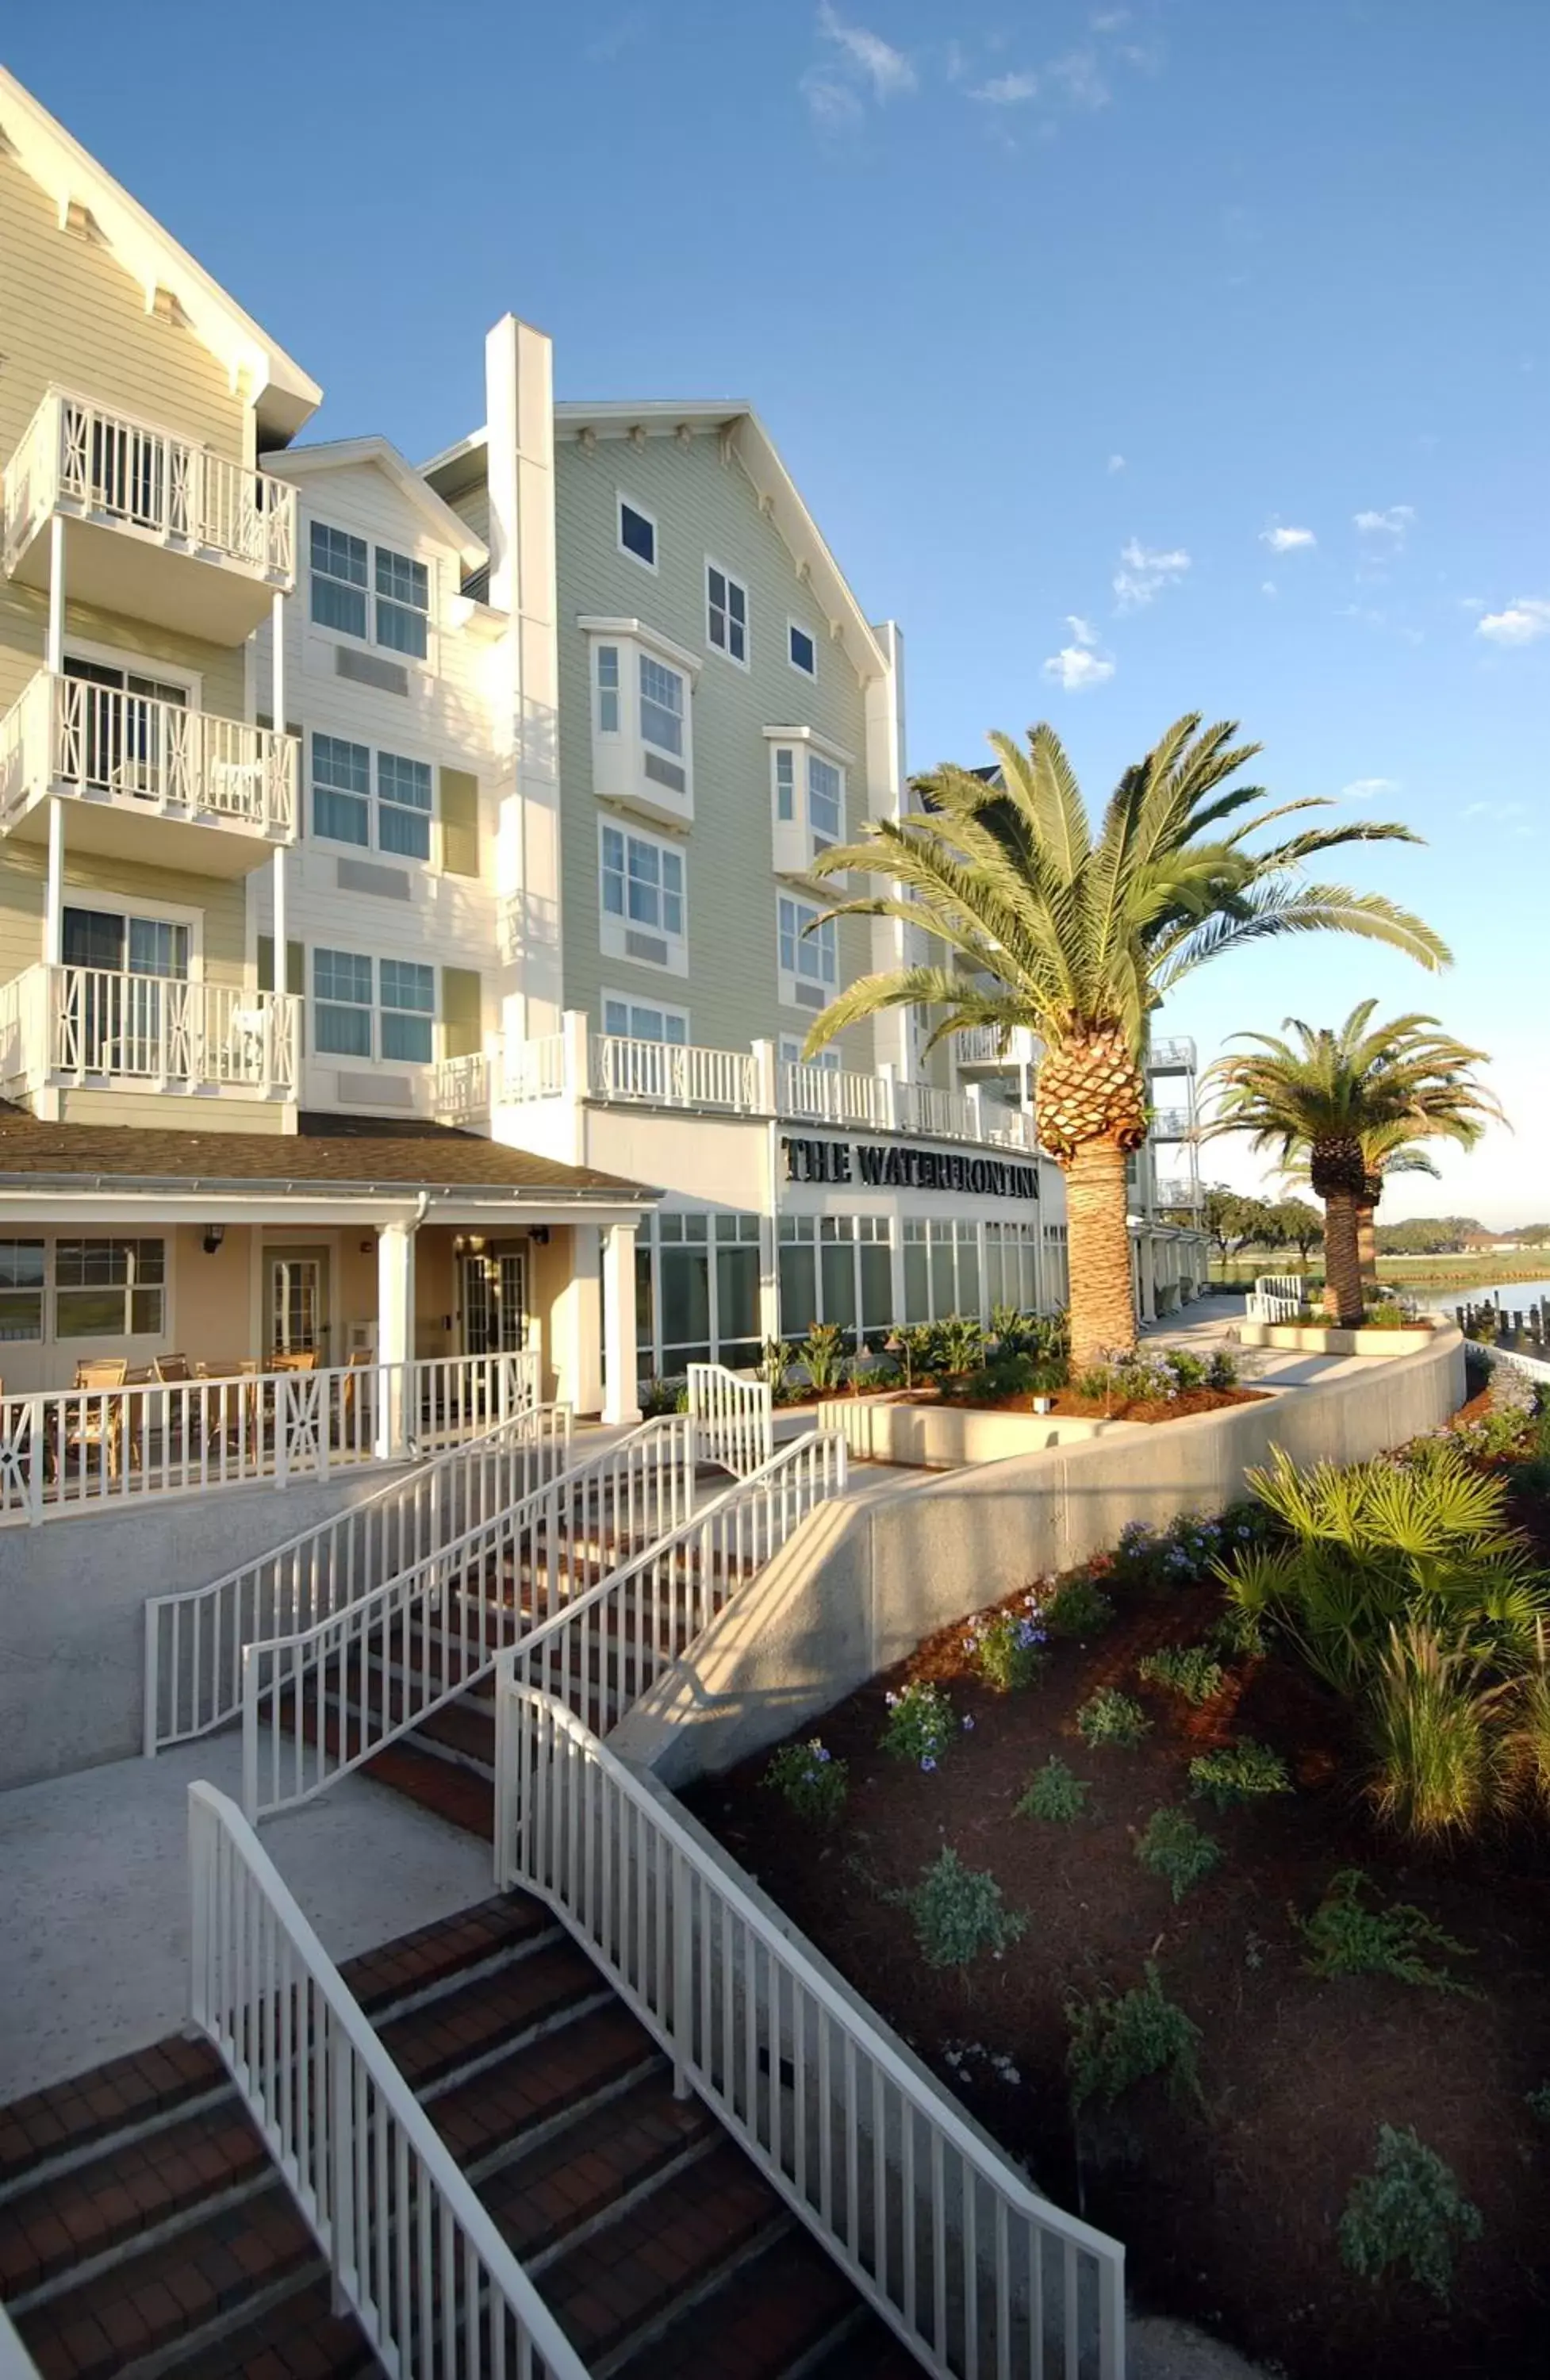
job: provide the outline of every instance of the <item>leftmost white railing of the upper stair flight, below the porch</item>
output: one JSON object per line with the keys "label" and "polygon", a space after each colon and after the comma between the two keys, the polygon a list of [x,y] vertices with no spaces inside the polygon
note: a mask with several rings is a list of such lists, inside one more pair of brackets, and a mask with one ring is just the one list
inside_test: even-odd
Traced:
{"label": "leftmost white railing of the upper stair flight, below the porch", "polygon": [[312,1628],[569,1471],[571,1409],[529,1404],[202,1587],[145,1604],[145,1756],[243,1706],[243,1647]]}

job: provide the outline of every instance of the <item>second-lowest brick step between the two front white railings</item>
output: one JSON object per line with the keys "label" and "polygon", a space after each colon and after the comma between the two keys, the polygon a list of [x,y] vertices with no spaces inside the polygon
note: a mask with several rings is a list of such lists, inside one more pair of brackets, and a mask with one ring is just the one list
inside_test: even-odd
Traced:
{"label": "second-lowest brick step between the two front white railings", "polygon": [[671,2187],[629,2202],[545,2261],[543,2297],[588,2370],[607,2380],[679,2318],[686,2292],[710,2292],[788,2228],[769,2182],[719,2137]]}

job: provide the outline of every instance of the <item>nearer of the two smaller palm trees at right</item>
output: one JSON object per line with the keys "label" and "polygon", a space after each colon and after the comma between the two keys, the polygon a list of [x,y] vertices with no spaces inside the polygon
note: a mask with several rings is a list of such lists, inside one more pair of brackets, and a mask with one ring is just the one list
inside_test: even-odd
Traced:
{"label": "nearer of the two smaller palm trees at right", "polygon": [[1395,1016],[1374,1026],[1364,1000],[1338,1031],[1288,1016],[1298,1047],[1269,1033],[1245,1033],[1252,1052],[1219,1059],[1207,1085],[1219,1090],[1210,1135],[1250,1133],[1250,1147],[1279,1150],[1281,1169],[1300,1157],[1314,1197],[1324,1200],[1324,1304],[1336,1323],[1362,1321],[1360,1216],[1383,1192],[1383,1173],[1419,1157],[1417,1140],[1450,1138],[1471,1147],[1500,1107],[1471,1069],[1486,1059],[1438,1028],[1436,1016]]}

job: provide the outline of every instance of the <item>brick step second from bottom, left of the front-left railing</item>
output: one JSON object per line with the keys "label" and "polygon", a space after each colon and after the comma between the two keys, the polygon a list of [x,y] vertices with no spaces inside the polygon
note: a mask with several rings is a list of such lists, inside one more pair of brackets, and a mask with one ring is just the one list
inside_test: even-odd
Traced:
{"label": "brick step second from bottom, left of the front-left railing", "polygon": [[21,2192],[0,2228],[0,2299],[26,2309],[71,2273],[167,2232],[212,2197],[257,2187],[269,2152],[236,2092],[181,2123],[110,2142],[90,2163]]}

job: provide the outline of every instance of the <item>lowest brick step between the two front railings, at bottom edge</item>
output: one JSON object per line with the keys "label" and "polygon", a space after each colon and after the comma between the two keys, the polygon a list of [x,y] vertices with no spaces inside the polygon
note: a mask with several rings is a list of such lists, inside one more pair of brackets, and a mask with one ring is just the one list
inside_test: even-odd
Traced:
{"label": "lowest brick step between the two front railings, at bottom edge", "polygon": [[[821,2356],[836,2380],[862,2380],[869,2320],[838,2263],[793,2223],[612,2370],[614,2380],[788,2380]],[[912,2356],[900,2370],[919,2380]]]}

